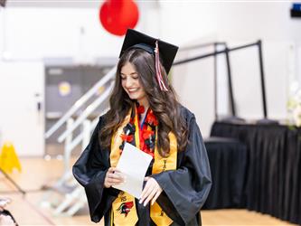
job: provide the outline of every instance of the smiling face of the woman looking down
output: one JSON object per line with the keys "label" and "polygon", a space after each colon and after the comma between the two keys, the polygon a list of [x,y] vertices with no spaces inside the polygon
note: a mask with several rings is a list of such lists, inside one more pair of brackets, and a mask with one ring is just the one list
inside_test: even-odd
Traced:
{"label": "smiling face of the woman looking down", "polygon": [[135,67],[127,62],[120,71],[121,85],[130,99],[136,99],[139,104],[147,105],[146,92],[139,81],[139,75]]}

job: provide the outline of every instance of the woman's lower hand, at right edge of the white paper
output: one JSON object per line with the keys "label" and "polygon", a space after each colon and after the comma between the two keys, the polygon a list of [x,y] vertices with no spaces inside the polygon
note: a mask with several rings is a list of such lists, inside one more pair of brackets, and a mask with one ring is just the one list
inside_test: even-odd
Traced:
{"label": "woman's lower hand, at right edge of the white paper", "polygon": [[148,202],[152,201],[153,205],[163,190],[153,177],[146,176],[145,181],[146,186],[141,193],[139,203],[144,202],[144,206],[146,206]]}

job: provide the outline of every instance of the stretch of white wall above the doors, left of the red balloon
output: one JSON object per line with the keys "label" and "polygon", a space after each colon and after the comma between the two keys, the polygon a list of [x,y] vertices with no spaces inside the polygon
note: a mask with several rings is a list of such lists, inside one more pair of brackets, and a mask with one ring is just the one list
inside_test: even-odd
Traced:
{"label": "stretch of white wall above the doors, left of the red balloon", "polygon": [[95,8],[7,7],[5,52],[12,58],[115,56],[122,39],[101,28]]}

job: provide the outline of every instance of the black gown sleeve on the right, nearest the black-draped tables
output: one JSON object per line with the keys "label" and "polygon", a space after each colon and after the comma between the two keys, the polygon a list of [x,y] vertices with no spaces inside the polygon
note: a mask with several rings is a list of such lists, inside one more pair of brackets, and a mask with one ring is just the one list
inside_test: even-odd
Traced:
{"label": "black gown sleeve on the right, nearest the black-draped tables", "polygon": [[193,115],[188,129],[188,145],[178,153],[177,170],[152,175],[163,189],[157,202],[180,225],[201,224],[196,218],[212,185],[207,152]]}

